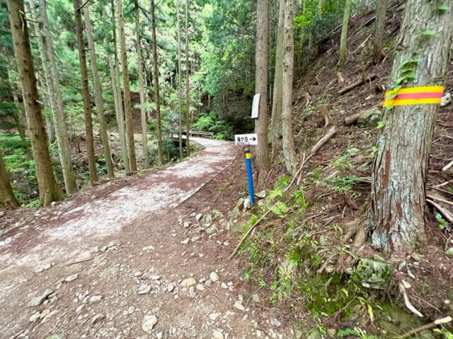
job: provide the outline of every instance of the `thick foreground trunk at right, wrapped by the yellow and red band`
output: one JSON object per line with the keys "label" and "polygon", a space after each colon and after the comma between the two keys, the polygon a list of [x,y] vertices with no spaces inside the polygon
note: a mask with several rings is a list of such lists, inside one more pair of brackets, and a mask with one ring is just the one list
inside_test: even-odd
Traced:
{"label": "thick foreground trunk at right, wrapped by the yellow and red band", "polygon": [[[452,1],[448,4],[441,11],[435,2],[406,2],[389,90],[398,90],[401,78],[404,88],[445,83],[453,36]],[[425,183],[436,112],[437,105],[428,104],[384,110],[384,129],[372,169],[368,225],[377,249],[404,254],[423,239]]]}

